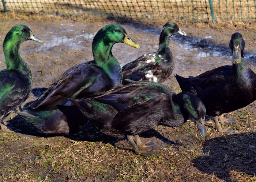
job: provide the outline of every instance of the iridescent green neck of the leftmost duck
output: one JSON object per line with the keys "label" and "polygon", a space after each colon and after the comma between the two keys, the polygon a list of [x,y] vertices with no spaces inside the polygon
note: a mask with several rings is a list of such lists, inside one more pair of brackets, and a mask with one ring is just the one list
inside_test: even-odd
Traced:
{"label": "iridescent green neck of the leftmost duck", "polygon": [[[22,73],[23,75],[27,75],[32,78],[31,70],[27,63],[22,59],[19,48],[20,41],[5,39],[3,43],[4,57],[6,70],[16,70]],[[29,75],[28,75],[29,73]]]}

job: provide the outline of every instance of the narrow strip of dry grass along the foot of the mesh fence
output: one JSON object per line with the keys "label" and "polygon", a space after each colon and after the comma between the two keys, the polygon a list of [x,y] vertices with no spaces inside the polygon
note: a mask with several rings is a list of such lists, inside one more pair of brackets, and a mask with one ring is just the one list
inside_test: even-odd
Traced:
{"label": "narrow strip of dry grass along the foot of the mesh fence", "polygon": [[[116,23],[139,23],[146,25],[148,27],[152,28],[162,28],[162,25],[166,23],[166,19],[162,19],[162,17],[154,17],[153,19],[148,19],[145,17],[137,17],[136,19],[128,18],[128,17],[111,17],[105,15],[98,15],[98,16],[68,16],[68,15],[62,15],[62,16],[56,16],[56,15],[45,15],[42,16],[41,14],[23,14],[23,13],[16,13],[16,12],[8,12],[8,13],[0,13],[0,18],[5,20],[22,20],[22,21],[28,21],[33,23],[36,22],[42,22],[42,21],[61,21],[64,19],[74,20],[74,21],[83,21],[88,23],[94,23],[97,21],[113,21]],[[227,28],[229,29],[235,29],[238,27],[241,27],[241,31],[244,31],[247,29],[248,31],[254,31],[256,29],[256,24],[252,21],[240,21],[240,20],[221,20],[216,22],[216,24],[213,24],[212,22],[202,22],[202,21],[189,21],[189,20],[181,20],[181,19],[172,19],[167,21],[173,21],[178,23],[181,27],[198,27],[198,28],[214,28],[218,29],[220,31],[225,30]],[[7,27],[7,26],[5,26]],[[8,29],[0,29],[2,33],[8,31]]]}

